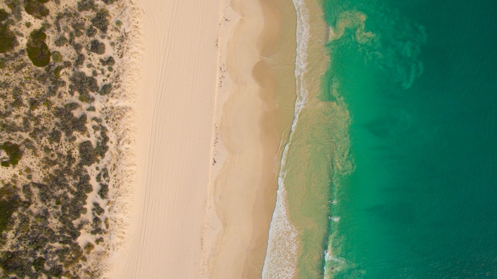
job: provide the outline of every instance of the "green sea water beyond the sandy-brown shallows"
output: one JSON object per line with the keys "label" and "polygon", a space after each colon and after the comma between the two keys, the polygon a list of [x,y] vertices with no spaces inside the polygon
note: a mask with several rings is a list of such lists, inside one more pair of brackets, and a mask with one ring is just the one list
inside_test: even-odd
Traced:
{"label": "green sea water beyond the sandy-brown shallows", "polygon": [[323,8],[321,100],[343,97],[355,166],[330,184],[327,274],[497,278],[497,2]]}

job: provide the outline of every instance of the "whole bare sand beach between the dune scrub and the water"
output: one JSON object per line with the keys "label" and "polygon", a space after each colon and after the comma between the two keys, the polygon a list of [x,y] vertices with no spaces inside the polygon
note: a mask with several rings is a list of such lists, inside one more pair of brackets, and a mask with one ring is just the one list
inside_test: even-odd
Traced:
{"label": "whole bare sand beach between the dune scrub and the water", "polygon": [[109,277],[260,277],[281,138],[261,53],[280,15],[245,0],[137,5],[137,174]]}

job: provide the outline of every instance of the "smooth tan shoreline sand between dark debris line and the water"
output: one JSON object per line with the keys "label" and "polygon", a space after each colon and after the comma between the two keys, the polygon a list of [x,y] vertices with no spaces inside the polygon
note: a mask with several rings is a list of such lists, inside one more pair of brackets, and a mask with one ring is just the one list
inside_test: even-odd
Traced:
{"label": "smooth tan shoreline sand between dark debris line and the water", "polygon": [[[290,90],[290,100],[282,94],[286,87],[278,79],[284,75],[276,69],[285,56],[281,44],[294,42],[292,34],[284,40],[280,32],[285,29],[281,13],[289,8],[284,5],[277,0],[225,1],[218,41],[217,105],[222,108],[216,110],[214,122],[215,163],[203,228],[201,278],[256,278],[262,272],[276,202],[280,142],[290,126],[293,106],[287,106],[295,94]],[[289,30],[294,36],[295,30]],[[294,56],[286,64],[284,71],[293,77]]]}

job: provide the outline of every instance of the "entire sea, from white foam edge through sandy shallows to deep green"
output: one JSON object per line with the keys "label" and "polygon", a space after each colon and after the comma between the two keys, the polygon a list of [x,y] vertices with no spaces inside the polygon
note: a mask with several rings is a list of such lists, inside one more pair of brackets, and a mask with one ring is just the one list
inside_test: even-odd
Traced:
{"label": "entire sea, from white foam edge through sandy shallows to deep green", "polygon": [[497,1],[311,1],[262,277],[497,278]]}

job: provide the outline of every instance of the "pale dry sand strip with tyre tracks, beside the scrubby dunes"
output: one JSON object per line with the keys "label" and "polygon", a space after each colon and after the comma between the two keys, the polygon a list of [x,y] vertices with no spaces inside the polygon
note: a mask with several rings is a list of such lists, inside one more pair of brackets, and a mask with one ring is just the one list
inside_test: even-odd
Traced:
{"label": "pale dry sand strip with tyre tracks, beside the scrubby dunes", "polygon": [[140,0],[137,182],[113,278],[197,278],[211,166],[220,7]]}

